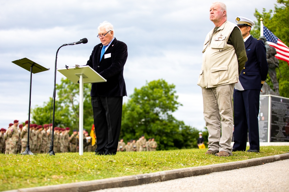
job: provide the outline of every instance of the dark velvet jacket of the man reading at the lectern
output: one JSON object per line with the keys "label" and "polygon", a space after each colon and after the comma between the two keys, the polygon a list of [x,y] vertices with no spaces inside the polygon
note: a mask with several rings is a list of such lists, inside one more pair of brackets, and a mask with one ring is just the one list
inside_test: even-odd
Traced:
{"label": "dark velvet jacket of the man reading at the lectern", "polygon": [[[127,96],[123,78],[123,67],[127,60],[127,45],[115,38],[99,61],[102,46],[100,43],[94,47],[86,65],[99,73],[107,82],[92,83],[90,96]],[[111,53],[111,56],[105,58],[105,54],[108,53]]]}

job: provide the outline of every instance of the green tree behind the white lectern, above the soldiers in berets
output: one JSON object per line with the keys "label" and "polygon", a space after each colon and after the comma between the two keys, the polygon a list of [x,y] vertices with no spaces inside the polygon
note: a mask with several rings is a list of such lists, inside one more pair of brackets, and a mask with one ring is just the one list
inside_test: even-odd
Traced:
{"label": "green tree behind the white lectern, above the soldiers in berets", "polygon": [[[90,131],[93,124],[93,112],[90,102],[90,84],[84,84],[84,129]],[[56,84],[55,98],[55,127],[70,127],[79,129],[79,85],[75,85],[67,78]],[[44,102],[43,106],[32,109],[31,117],[36,124],[52,123],[52,98]],[[50,121],[49,121],[50,120]]]}

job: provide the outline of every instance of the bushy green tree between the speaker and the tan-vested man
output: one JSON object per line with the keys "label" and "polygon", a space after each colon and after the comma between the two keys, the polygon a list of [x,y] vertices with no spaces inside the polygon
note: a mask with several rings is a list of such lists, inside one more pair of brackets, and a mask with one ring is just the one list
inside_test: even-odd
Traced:
{"label": "bushy green tree between the speaker and the tan-vested man", "polygon": [[172,113],[181,104],[177,102],[175,85],[163,79],[147,82],[140,89],[135,88],[127,103],[123,104],[121,137],[124,140],[154,137],[158,149],[192,148],[196,129],[178,121]]}

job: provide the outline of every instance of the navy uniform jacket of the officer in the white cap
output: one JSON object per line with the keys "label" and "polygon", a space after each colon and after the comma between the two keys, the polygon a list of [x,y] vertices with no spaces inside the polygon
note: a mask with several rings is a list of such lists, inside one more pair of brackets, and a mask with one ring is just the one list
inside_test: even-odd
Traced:
{"label": "navy uniform jacket of the officer in the white cap", "polygon": [[242,70],[239,80],[244,88],[261,90],[261,81],[265,81],[268,73],[266,47],[262,40],[250,36],[245,41],[247,62]]}

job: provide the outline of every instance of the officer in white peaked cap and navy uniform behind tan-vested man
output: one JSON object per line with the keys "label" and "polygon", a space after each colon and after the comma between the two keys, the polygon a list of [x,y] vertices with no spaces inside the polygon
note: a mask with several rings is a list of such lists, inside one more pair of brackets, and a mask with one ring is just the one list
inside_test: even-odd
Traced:
{"label": "officer in white peaked cap and navy uniform behind tan-vested man", "polygon": [[262,40],[250,35],[255,23],[245,17],[236,17],[237,26],[242,32],[247,54],[247,62],[234,88],[234,146],[232,151],[245,151],[249,131],[250,149],[258,153],[259,142],[259,98],[268,73],[266,48]]}

